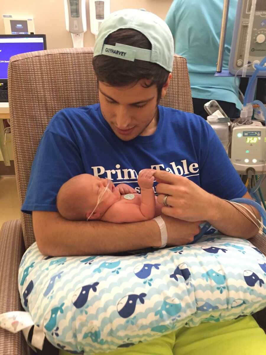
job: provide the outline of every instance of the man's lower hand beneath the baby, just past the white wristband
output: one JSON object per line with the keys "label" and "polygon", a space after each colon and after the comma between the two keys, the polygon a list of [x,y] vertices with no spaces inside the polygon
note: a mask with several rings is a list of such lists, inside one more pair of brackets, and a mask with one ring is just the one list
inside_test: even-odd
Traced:
{"label": "man's lower hand beneath the baby, just past the white wristband", "polygon": [[[186,222],[177,218],[168,217],[165,214],[161,215],[165,221],[167,230],[167,245],[179,246],[191,243],[194,236],[200,232],[199,225],[203,221]],[[156,222],[155,222],[156,223]],[[161,246],[161,239],[158,240],[155,247]]]}

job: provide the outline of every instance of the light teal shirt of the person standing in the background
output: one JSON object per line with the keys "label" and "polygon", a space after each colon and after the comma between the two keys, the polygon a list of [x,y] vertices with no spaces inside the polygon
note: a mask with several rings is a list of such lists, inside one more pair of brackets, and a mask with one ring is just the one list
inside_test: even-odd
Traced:
{"label": "light teal shirt of the person standing in the background", "polygon": [[[229,4],[223,70],[228,70],[237,1]],[[192,97],[232,102],[241,109],[234,78],[214,76],[222,12],[223,0],[174,0],[165,22],[174,37],[175,53],[187,59]]]}

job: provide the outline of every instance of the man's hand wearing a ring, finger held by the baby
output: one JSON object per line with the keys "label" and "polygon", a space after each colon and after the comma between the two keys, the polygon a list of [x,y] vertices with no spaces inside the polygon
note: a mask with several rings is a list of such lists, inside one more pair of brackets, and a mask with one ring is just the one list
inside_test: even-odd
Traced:
{"label": "man's hand wearing a ring, finger held by the baby", "polygon": [[165,195],[169,195],[166,202],[171,207],[162,207],[162,213],[188,222],[211,220],[218,214],[217,197],[188,178],[163,170],[156,171],[154,176],[159,182],[157,201],[163,203]]}

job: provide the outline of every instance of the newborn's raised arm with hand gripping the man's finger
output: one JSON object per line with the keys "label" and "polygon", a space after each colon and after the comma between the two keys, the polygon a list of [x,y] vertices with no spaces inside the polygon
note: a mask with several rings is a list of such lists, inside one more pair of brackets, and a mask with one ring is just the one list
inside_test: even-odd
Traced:
{"label": "newborn's raised arm with hand gripping the man's finger", "polygon": [[142,202],[140,204],[140,212],[146,219],[152,219],[155,215],[155,195],[153,190],[154,169],[143,169],[139,172],[138,184]]}

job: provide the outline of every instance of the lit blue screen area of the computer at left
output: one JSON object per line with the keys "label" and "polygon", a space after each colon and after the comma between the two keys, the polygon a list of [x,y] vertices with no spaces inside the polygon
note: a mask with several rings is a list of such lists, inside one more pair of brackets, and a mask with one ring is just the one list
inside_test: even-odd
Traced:
{"label": "lit blue screen area of the computer at left", "polygon": [[0,79],[7,79],[7,67],[12,55],[43,49],[43,38],[0,38]]}

